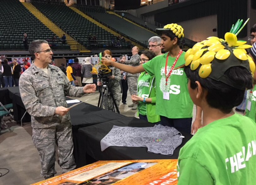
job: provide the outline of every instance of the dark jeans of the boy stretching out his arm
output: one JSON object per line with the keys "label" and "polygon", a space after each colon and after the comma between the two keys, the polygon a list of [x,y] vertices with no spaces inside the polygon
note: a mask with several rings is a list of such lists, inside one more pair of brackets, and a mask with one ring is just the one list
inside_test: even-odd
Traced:
{"label": "dark jeans of the boy stretching out his arm", "polygon": [[176,128],[179,132],[191,133],[192,118],[172,119],[160,116],[160,124]]}

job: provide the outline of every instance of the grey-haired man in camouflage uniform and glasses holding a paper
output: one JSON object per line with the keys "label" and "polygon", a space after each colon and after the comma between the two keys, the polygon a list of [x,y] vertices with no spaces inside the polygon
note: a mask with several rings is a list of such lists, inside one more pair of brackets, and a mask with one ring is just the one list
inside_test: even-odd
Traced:
{"label": "grey-haired man in camouflage uniform and glasses holding a paper", "polygon": [[41,175],[46,178],[56,174],[55,143],[58,146],[59,165],[62,172],[75,169],[72,128],[65,96],[82,96],[95,92],[94,84],[74,87],[66,75],[52,62],[52,49],[45,40],[30,43],[29,52],[34,58],[19,79],[19,90],[27,112],[31,115],[32,139],[41,161]]}

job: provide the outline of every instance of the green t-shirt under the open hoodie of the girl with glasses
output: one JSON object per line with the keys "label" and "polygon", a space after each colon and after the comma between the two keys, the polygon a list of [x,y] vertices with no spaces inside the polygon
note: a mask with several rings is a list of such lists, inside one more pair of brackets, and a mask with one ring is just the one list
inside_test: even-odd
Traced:
{"label": "green t-shirt under the open hoodie of the girl with glasses", "polygon": [[[138,96],[142,98],[148,98],[150,93],[150,80],[153,76],[143,72],[139,75],[138,80]],[[147,115],[146,112],[146,103],[139,101],[139,114]]]}

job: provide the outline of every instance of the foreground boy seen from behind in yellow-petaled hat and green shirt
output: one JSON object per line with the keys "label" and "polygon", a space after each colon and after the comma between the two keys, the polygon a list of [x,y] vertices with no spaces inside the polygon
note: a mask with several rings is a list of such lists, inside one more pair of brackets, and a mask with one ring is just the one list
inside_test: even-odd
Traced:
{"label": "foreground boy seen from behind in yellow-petaled hat and green shirt", "polygon": [[244,53],[249,45],[234,33],[207,39],[185,56],[189,94],[204,116],[180,150],[178,185],[254,185],[256,123],[233,111],[253,85],[255,64]]}

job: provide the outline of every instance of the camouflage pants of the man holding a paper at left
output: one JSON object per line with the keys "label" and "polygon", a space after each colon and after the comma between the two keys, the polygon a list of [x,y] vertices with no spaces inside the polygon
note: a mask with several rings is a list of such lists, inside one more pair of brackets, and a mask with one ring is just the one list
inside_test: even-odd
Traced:
{"label": "camouflage pants of the man holding a paper at left", "polygon": [[73,136],[70,122],[49,128],[34,129],[32,139],[40,155],[41,176],[53,177],[55,167],[55,143],[58,146],[59,165],[62,173],[74,170]]}

